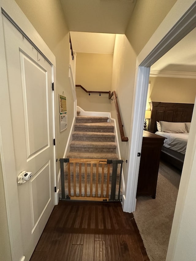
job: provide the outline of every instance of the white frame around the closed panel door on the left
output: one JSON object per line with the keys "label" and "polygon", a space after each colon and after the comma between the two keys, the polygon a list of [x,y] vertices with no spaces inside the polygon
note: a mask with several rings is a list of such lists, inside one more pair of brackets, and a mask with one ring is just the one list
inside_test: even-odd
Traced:
{"label": "white frame around the closed panel door on the left", "polygon": [[[28,21],[24,13],[21,11],[19,6],[13,0],[0,0],[0,6],[13,21],[17,24],[19,28],[31,39],[32,43],[44,54],[45,57],[51,62],[53,66],[53,81],[56,82],[55,67],[56,61],[55,56],[51,50],[44,43],[43,39],[36,32],[35,28]],[[2,12],[0,14],[0,78],[1,78],[1,88],[0,88],[0,111],[4,112],[0,114],[0,154],[2,160],[2,172],[5,188],[5,198],[6,198],[6,210],[8,219],[8,229],[9,229],[9,240],[12,260],[22,261],[25,260],[22,248],[22,237],[21,237],[21,225],[20,225],[20,212],[18,203],[18,192],[17,192],[17,180],[15,173],[15,159],[14,159],[14,149],[13,149],[13,135],[12,135],[12,124],[11,124],[11,112],[9,105],[9,91],[8,91],[8,80],[7,80],[7,69],[6,69],[6,56],[4,48],[4,38],[3,38],[3,24],[2,24]],[[54,93],[54,116],[56,115],[56,92]],[[55,119],[56,117],[54,117]],[[56,121],[53,122],[54,133],[56,136]],[[55,138],[55,137],[54,137]],[[57,151],[57,146],[54,146],[54,161]],[[55,164],[56,166],[56,164]],[[56,177],[55,177],[56,181]],[[56,184],[54,184],[55,186]]]}

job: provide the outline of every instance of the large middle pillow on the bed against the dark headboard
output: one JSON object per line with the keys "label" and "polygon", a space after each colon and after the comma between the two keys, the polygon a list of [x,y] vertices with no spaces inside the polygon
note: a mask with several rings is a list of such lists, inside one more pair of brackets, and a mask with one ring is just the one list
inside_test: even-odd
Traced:
{"label": "large middle pillow on the bed against the dark headboard", "polygon": [[184,122],[160,121],[163,132],[184,133],[187,132]]}

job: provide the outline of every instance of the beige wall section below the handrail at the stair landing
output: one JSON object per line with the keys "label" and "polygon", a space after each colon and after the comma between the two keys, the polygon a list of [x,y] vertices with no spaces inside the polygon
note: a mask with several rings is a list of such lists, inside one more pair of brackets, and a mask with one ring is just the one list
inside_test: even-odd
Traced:
{"label": "beige wall section below the handrail at the stair landing", "polygon": [[76,87],[77,105],[85,111],[110,111],[110,100],[108,94],[88,93],[80,87]]}

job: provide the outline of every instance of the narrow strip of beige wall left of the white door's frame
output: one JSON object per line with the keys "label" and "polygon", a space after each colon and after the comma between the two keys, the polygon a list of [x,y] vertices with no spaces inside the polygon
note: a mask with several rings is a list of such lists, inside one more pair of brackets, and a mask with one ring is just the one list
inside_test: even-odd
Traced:
{"label": "narrow strip of beige wall left of the white door's frame", "polygon": [[3,184],[3,173],[0,157],[0,260],[11,261],[11,249],[9,243],[7,213],[6,213],[6,199]]}

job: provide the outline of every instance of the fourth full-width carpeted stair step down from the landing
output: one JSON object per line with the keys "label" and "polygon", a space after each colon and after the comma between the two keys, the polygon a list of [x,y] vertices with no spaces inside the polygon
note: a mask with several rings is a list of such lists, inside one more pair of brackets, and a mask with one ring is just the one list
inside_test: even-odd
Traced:
{"label": "fourth full-width carpeted stair step down from the landing", "polygon": [[70,151],[74,152],[116,152],[115,142],[90,142],[90,141],[77,141],[73,140],[70,143]]}

